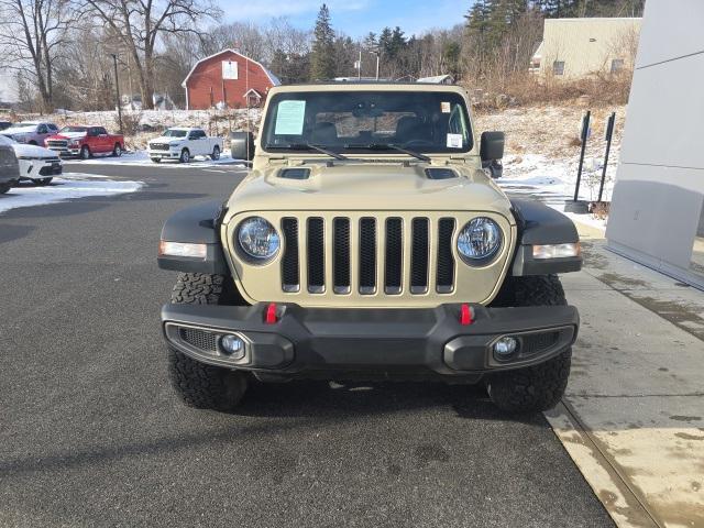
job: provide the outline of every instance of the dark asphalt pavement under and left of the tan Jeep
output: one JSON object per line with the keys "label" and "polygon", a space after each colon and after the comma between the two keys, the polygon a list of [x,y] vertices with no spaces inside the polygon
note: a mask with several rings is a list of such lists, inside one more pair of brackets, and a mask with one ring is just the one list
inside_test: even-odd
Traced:
{"label": "dark asphalt pavement under and left of the tan Jeep", "polygon": [[66,170],[146,186],[0,215],[0,526],[613,526],[544,418],[475,388],[292,383],[237,414],[185,407],[158,233],[242,170]]}

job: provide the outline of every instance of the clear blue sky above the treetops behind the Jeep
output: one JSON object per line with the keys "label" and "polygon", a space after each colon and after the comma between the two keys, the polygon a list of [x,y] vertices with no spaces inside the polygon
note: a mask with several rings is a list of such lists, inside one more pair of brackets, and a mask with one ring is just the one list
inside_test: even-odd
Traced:
{"label": "clear blue sky above the treetops behind the Jeep", "polygon": [[[464,22],[471,0],[328,0],[332,26],[352,37],[400,26],[406,35]],[[322,0],[221,0],[228,21],[265,22],[287,16],[300,29],[312,28]]]}

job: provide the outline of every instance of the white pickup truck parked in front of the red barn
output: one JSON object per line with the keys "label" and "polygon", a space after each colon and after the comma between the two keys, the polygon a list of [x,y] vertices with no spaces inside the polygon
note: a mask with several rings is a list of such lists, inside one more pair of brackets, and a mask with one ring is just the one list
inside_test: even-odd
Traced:
{"label": "white pickup truck parked in front of the red barn", "polygon": [[148,155],[154,163],[162,160],[178,160],[188,163],[195,156],[209,156],[219,160],[222,152],[222,138],[208,138],[202,129],[173,128],[150,141]]}

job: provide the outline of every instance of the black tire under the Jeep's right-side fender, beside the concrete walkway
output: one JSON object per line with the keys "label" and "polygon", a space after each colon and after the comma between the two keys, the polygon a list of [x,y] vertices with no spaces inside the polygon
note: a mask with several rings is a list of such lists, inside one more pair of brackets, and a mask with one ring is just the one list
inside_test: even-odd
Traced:
{"label": "black tire under the Jeep's right-side fender, beside the concrete walkway", "polygon": [[[507,296],[513,306],[564,306],[564,289],[556,275],[512,277]],[[537,413],[554,407],[568,386],[572,349],[539,365],[492,374],[492,402],[508,413]]]}

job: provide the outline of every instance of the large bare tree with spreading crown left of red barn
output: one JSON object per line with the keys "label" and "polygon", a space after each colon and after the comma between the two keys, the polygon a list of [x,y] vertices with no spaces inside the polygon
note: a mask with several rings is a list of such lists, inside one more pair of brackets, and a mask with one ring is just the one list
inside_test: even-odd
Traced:
{"label": "large bare tree with spreading crown left of red barn", "polygon": [[198,23],[220,10],[210,0],[82,0],[86,12],[112,29],[131,57],[142,92],[142,107],[154,108],[155,57],[164,34],[200,37]]}

